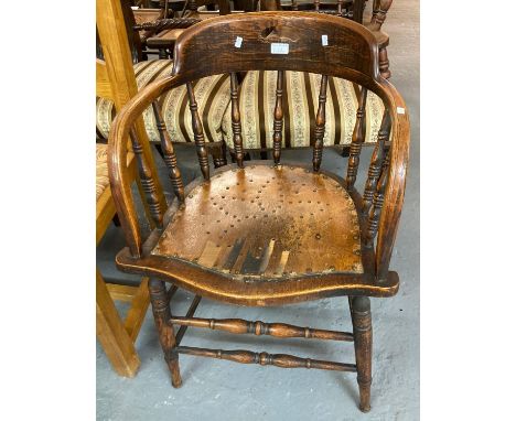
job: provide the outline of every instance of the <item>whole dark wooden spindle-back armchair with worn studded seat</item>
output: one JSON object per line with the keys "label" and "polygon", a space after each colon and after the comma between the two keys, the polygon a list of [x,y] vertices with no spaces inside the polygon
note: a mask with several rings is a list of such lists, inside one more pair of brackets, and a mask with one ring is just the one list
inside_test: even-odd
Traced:
{"label": "whole dark wooden spindle-back armchair with worn studded seat", "polygon": [[[327,43],[322,43],[326,35]],[[318,41],[318,42],[314,42]],[[324,45],[323,45],[324,44]],[[277,71],[273,161],[244,162],[236,74]],[[282,74],[321,74],[314,117],[312,165],[281,164]],[[228,73],[237,163],[211,173],[197,112],[194,80]],[[364,139],[364,108],[356,115],[344,179],[321,170],[329,76],[374,91],[385,105],[365,192],[354,187]],[[186,84],[202,176],[184,185],[173,144],[163,128],[164,91]],[[132,130],[152,105],[160,121],[164,161],[175,194],[166,208],[153,188],[152,164],[139,152]],[[387,143],[391,132],[391,141]],[[126,166],[130,139],[157,228],[142,238]],[[152,311],[172,385],[181,386],[179,355],[196,355],[283,368],[357,373],[359,408],[369,410],[372,316],[369,296],[387,298],[399,279],[389,270],[404,202],[409,149],[408,112],[401,96],[378,73],[378,45],[364,26],[307,12],[260,12],[218,17],[185,31],[175,46],[172,75],[141,90],[116,117],[109,134],[109,177],[128,247],[116,258],[120,270],[150,277]],[[165,282],[197,295],[186,317],[172,315]],[[353,333],[282,323],[194,317],[202,296],[245,306],[281,305],[348,296]],[[175,335],[175,327],[181,326]],[[291,355],[181,346],[187,326],[235,334],[353,342],[356,364]]]}

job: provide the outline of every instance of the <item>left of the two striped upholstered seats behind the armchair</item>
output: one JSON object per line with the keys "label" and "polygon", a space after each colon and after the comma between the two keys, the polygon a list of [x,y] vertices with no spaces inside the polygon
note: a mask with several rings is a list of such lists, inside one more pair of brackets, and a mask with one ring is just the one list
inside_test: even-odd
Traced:
{"label": "left of the two striped upholstered seats behind the armchair", "polygon": [[[138,89],[143,88],[151,82],[169,76],[172,73],[173,62],[171,60],[154,60],[135,64],[135,75]],[[206,141],[215,142],[222,140],[221,123],[224,112],[229,105],[229,76],[216,75],[196,80],[194,84],[195,99],[198,105],[198,114],[203,120],[204,136]],[[163,111],[166,129],[174,142],[192,142],[192,116],[189,108],[186,86],[180,86],[169,90],[159,98]],[[115,107],[111,100],[97,97],[97,136],[107,139],[111,121],[115,117]],[[159,131],[149,107],[143,112],[149,140],[159,142]]]}

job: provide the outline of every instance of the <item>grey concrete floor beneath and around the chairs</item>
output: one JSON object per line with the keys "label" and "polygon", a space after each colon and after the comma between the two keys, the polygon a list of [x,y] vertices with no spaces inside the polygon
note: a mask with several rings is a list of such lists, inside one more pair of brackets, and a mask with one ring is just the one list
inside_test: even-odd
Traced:
{"label": "grey concrete floor beneath and around the chairs", "polygon": [[[173,389],[163,361],[151,312],[141,327],[137,349],[141,367],[136,378],[118,377],[97,343],[98,420],[407,420],[419,419],[419,2],[396,0],[385,25],[390,35],[391,82],[407,101],[412,125],[411,162],[404,214],[391,268],[401,285],[393,299],[373,299],[374,361],[372,411],[357,409],[356,375],[323,370],[236,365],[182,356],[183,387]],[[369,152],[370,153],[370,152]],[[367,154],[366,154],[367,155]],[[180,148],[183,174],[196,175],[192,149]],[[286,151],[284,162],[310,161],[308,151]],[[363,162],[368,162],[365,158]],[[343,174],[346,161],[325,150],[323,166]],[[365,165],[359,183],[364,182]],[[108,279],[132,282],[112,262],[123,246],[110,227],[97,249],[98,266]],[[184,314],[192,294],[178,293],[171,305]],[[120,312],[127,311],[125,304]],[[286,307],[240,309],[203,300],[201,317],[241,317],[332,330],[351,330],[347,300],[325,299]],[[354,360],[353,344],[236,336],[194,330],[184,345],[268,350],[321,359]]]}

